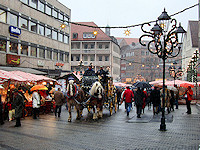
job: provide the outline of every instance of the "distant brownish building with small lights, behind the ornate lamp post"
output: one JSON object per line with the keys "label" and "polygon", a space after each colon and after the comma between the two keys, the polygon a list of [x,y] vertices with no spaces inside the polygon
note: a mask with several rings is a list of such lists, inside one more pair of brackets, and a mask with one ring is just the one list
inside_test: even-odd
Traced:
{"label": "distant brownish building with small lights, behind the ornate lamp post", "polygon": [[[129,42],[125,42],[125,39],[118,38],[123,42],[121,47],[121,81],[125,83],[134,83],[140,78],[143,81],[162,80],[163,78],[163,61],[157,55],[149,52],[146,46],[142,46],[136,39],[128,39]],[[136,43],[135,43],[136,42]],[[148,41],[143,41],[148,43]],[[131,44],[127,44],[131,43]],[[177,49],[175,50],[177,52]],[[176,58],[168,58],[165,66],[165,76],[167,80],[173,80],[169,74],[170,66],[181,66],[181,54]]]}

